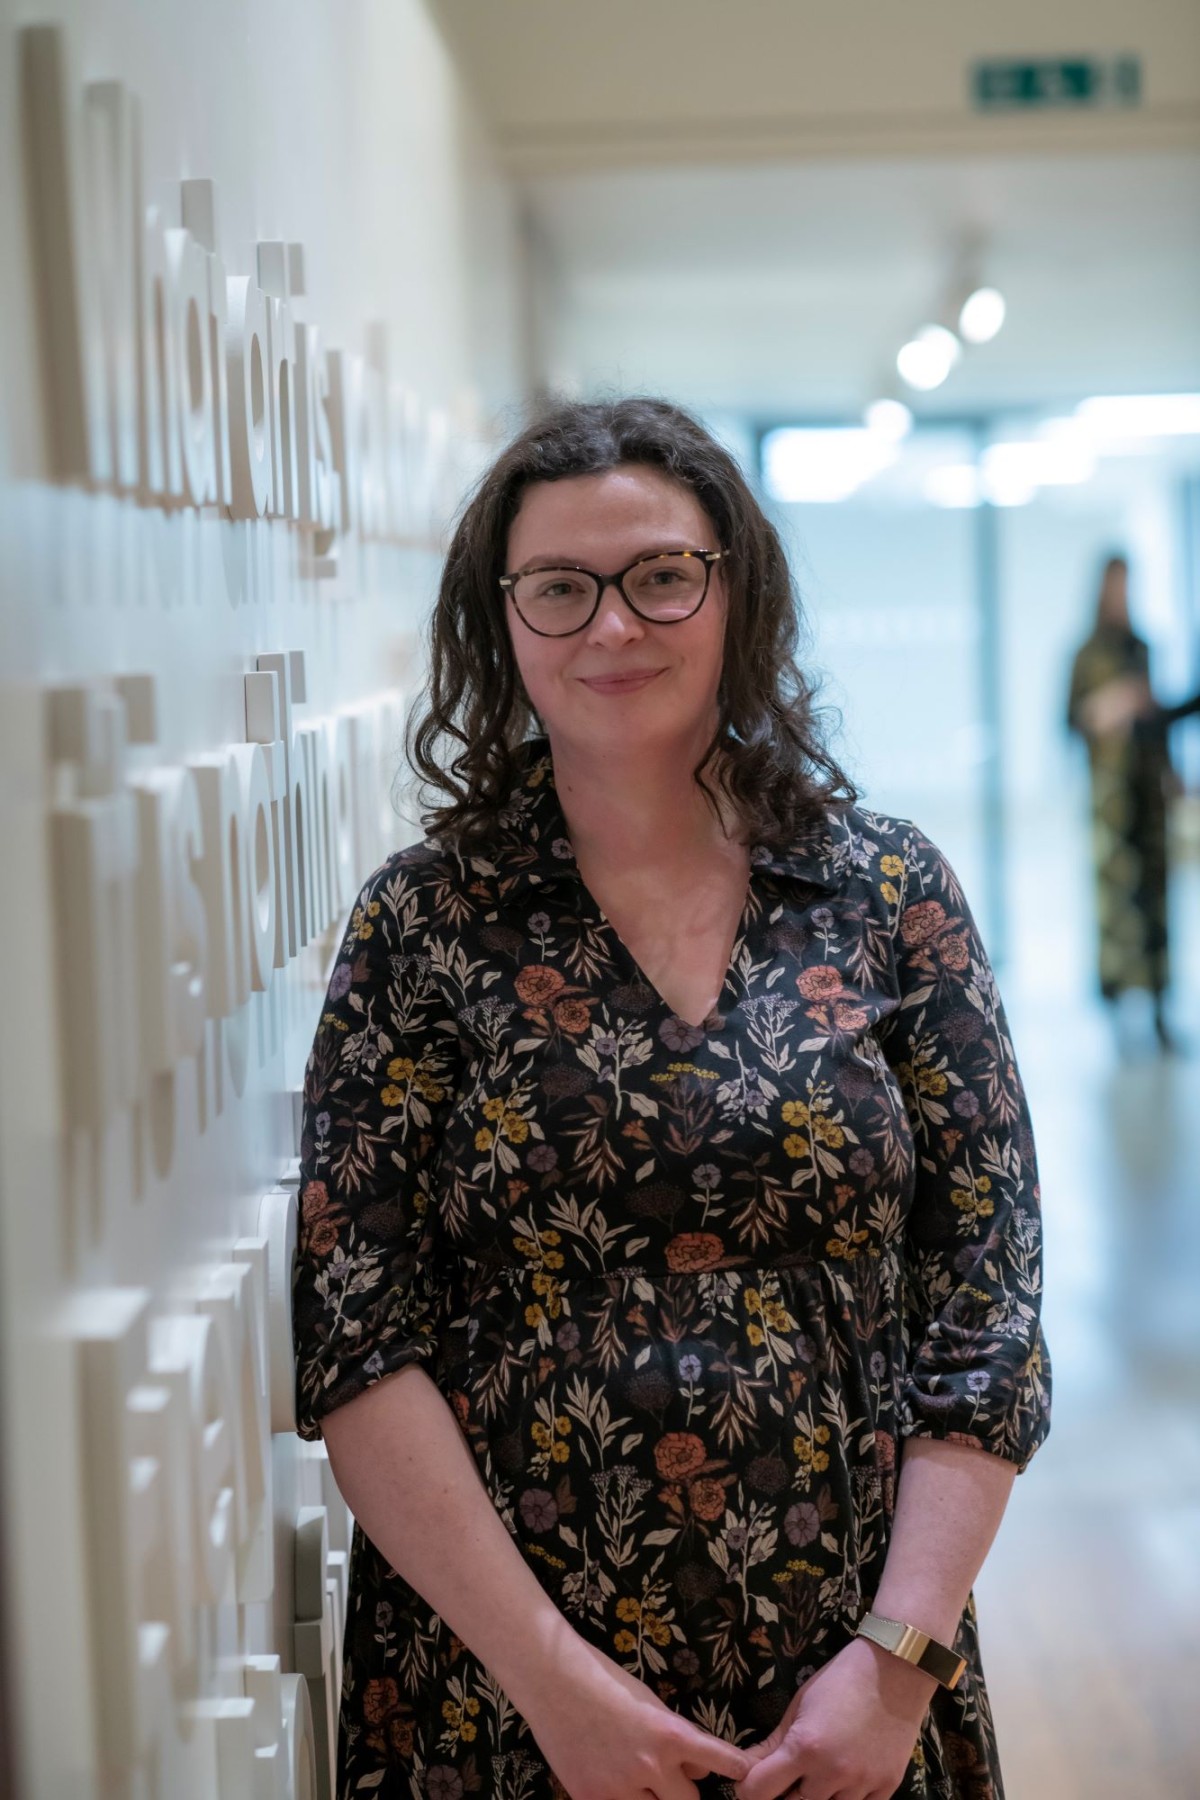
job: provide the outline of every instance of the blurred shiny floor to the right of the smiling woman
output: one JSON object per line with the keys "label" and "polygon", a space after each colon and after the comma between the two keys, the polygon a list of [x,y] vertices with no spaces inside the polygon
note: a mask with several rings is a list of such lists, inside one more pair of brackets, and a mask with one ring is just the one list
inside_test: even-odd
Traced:
{"label": "blurred shiny floor to the right of the smiling woman", "polygon": [[1054,1413],[975,1586],[1006,1795],[1200,1800],[1200,1008],[1124,1060],[1099,1012],[1009,1015]]}

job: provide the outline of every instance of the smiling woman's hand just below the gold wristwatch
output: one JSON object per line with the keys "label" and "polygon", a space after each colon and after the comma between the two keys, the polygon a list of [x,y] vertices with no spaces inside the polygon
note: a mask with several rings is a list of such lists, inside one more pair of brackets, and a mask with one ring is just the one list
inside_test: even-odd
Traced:
{"label": "smiling woman's hand just below the gold wristwatch", "polygon": [[747,1755],[739,1800],[891,1800],[912,1759],[937,1683],[855,1638],[797,1688],[783,1719]]}

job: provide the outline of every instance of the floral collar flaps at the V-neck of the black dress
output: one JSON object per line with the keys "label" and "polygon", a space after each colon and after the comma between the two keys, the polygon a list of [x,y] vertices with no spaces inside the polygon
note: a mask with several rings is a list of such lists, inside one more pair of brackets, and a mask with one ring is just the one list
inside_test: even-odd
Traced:
{"label": "floral collar flaps at the V-neck of the black dress", "polygon": [[[524,772],[500,815],[500,837],[489,859],[500,875],[502,893],[542,887],[569,877],[579,880],[579,866],[570,848],[567,819],[554,785],[549,740],[545,736],[527,738],[520,745],[516,760]],[[837,862],[837,844],[828,815],[806,826],[786,850],[774,844],[750,846],[752,877],[754,871],[759,871],[806,882],[810,887],[820,887],[828,893],[835,893],[844,880]]]}

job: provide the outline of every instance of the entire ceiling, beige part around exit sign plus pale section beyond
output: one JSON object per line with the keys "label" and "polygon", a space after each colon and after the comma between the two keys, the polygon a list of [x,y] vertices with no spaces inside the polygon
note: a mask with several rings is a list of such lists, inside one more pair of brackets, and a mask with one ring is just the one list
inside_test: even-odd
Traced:
{"label": "entire ceiling, beige part around exit sign plus pale section beyond", "polygon": [[[1200,389],[1198,0],[428,4],[527,202],[543,385],[856,414],[975,230],[1009,319],[919,412]],[[1139,103],[975,103],[1065,54]]]}

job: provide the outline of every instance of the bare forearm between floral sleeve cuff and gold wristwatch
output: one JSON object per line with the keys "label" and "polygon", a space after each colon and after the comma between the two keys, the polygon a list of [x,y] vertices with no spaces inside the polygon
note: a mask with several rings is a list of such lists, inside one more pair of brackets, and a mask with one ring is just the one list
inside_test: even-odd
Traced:
{"label": "bare forearm between floral sleeve cuff and gold wristwatch", "polygon": [[1016,1465],[945,1438],[905,1438],[873,1611],[950,1643],[991,1548]]}

